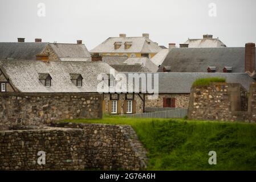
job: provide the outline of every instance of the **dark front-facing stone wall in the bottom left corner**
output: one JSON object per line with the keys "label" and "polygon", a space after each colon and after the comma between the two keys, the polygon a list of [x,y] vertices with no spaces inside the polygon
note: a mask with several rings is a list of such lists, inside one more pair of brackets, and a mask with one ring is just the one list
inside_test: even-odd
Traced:
{"label": "dark front-facing stone wall in the bottom left corner", "polygon": [[[0,131],[0,170],[82,170],[84,130],[44,127]],[[38,152],[46,164],[38,164]]]}

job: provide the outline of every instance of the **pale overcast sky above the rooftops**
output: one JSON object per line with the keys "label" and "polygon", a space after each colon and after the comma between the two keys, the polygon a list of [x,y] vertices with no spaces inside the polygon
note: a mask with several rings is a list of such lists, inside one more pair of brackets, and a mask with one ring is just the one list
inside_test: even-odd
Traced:
{"label": "pale overcast sky above the rooftops", "polygon": [[0,42],[82,39],[92,49],[120,33],[149,33],[168,47],[213,34],[228,47],[243,47],[256,43],[255,7],[255,0],[0,0]]}

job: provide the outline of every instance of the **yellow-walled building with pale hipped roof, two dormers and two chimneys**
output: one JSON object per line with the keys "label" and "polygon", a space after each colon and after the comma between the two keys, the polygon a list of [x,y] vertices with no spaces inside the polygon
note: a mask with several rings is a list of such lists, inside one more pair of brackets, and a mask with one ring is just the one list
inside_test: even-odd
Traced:
{"label": "yellow-walled building with pale hipped roof, two dormers and two chimneys", "polygon": [[141,37],[127,37],[120,34],[119,37],[112,37],[95,47],[90,53],[99,53],[102,56],[127,56],[127,57],[151,57],[161,51],[157,43],[149,39],[149,34]]}

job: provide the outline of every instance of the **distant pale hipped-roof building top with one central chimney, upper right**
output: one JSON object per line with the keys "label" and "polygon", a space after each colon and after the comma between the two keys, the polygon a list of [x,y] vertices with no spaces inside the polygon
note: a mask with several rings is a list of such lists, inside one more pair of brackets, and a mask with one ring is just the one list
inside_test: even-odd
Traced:
{"label": "distant pale hipped-roof building top with one central chimney, upper right", "polygon": [[213,38],[213,35],[203,35],[202,39],[188,39],[185,43],[180,44],[181,47],[189,48],[213,48],[226,47],[218,38]]}

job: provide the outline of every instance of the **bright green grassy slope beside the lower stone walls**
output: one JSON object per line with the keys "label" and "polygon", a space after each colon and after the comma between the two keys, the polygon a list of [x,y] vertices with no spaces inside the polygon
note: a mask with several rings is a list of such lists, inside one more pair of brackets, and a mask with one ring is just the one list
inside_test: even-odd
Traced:
{"label": "bright green grassy slope beside the lower stone walls", "polygon": [[[149,170],[256,169],[256,125],[253,123],[125,117],[71,122],[131,125],[148,150]],[[217,152],[217,165],[209,165],[209,151]]]}

